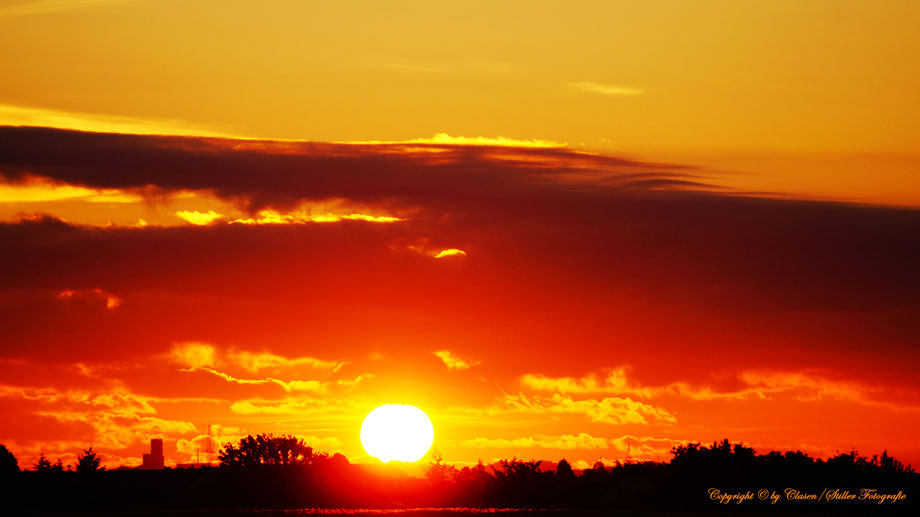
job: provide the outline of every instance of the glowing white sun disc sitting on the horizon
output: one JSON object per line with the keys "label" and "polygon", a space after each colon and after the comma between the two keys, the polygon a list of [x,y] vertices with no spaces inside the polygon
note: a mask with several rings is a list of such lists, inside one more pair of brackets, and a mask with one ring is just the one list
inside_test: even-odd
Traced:
{"label": "glowing white sun disc sitting on the horizon", "polygon": [[424,411],[404,404],[385,404],[361,424],[361,445],[384,463],[418,461],[434,442],[434,427]]}

